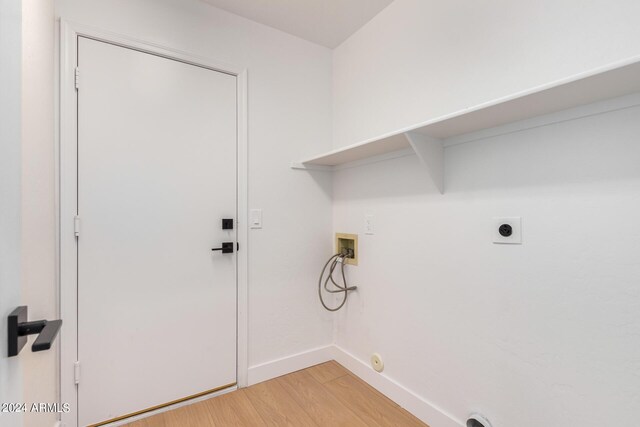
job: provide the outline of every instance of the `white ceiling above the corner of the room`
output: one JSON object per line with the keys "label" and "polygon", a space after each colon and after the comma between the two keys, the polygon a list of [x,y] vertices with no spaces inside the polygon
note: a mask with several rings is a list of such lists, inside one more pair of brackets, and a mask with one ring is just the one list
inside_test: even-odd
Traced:
{"label": "white ceiling above the corner of the room", "polygon": [[334,48],[393,0],[204,0],[252,21]]}

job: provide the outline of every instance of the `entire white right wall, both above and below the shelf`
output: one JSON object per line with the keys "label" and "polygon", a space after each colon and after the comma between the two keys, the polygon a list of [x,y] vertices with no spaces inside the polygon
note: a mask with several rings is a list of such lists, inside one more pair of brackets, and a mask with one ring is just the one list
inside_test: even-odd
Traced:
{"label": "entire white right wall, both above and below the shelf", "polygon": [[[334,52],[334,145],[637,55],[639,12],[396,0]],[[636,423],[639,119],[448,147],[444,195],[412,155],[336,172],[334,230],[360,235],[337,345],[380,352],[385,375],[460,423],[472,410],[494,427]],[[494,216],[522,216],[524,244],[492,244]]]}

